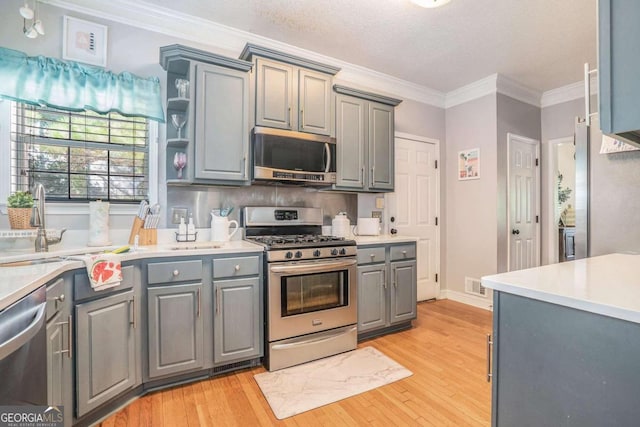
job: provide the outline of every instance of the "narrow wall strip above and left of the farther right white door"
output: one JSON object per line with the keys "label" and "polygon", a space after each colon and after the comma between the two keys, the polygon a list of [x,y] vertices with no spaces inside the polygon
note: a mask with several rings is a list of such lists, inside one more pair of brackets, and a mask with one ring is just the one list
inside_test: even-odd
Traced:
{"label": "narrow wall strip above and left of the farther right white door", "polygon": [[[507,222],[508,149],[507,134],[512,133],[540,141],[540,108],[509,96],[497,95],[497,270],[508,271],[509,229]],[[542,234],[542,233],[541,233]]]}

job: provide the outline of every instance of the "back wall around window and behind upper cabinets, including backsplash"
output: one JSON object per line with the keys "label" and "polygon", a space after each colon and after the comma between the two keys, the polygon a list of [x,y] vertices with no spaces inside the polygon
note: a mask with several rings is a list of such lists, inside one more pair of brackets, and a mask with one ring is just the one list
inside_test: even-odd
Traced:
{"label": "back wall around window and behind upper cabinets, including backsplash", "polygon": [[[126,70],[140,76],[157,76],[160,79],[163,93],[166,87],[166,74],[158,63],[158,49],[161,46],[181,43],[232,58],[237,58],[240,54],[240,51],[231,52],[211,44],[195,43],[93,16],[83,16],[82,14],[69,12],[47,4],[39,4],[40,18],[43,21],[46,36],[30,40],[22,34],[22,20],[18,14],[18,9],[23,4],[22,0],[3,0],[0,4],[0,46],[21,50],[29,55],[60,58],[62,55],[61,40],[64,15],[69,14],[88,21],[105,24],[109,27],[107,68],[114,72]],[[215,41],[211,41],[211,43],[215,43]],[[349,84],[348,81],[340,80],[340,82],[341,84]],[[368,89],[373,92],[376,91],[375,88]],[[393,93],[388,93],[388,95],[394,96]],[[395,117],[398,131],[444,139],[444,109],[417,101],[405,100],[396,110]],[[3,127],[5,124],[3,121],[6,121],[6,118],[0,117],[0,131],[6,129],[6,127]],[[158,164],[164,165],[166,164],[164,150],[162,149],[165,141],[164,124],[159,126],[158,132]],[[1,170],[2,168],[0,168]],[[211,207],[216,207],[222,200],[234,206],[250,203],[249,200],[254,202],[251,204],[255,204],[257,200],[260,200],[269,204],[282,202],[297,206],[328,207],[325,216],[335,214],[333,211],[340,206],[340,210],[346,210],[353,218],[358,216],[358,196],[356,194],[332,194],[314,189],[285,186],[251,186],[248,189],[205,186],[167,188],[163,184],[164,182],[165,172],[163,168],[159,168],[157,192],[160,204],[163,206],[184,206],[186,204],[188,207],[193,207],[194,219],[200,227],[209,225],[206,212]],[[255,197],[248,199],[248,195],[254,195]],[[2,201],[0,201],[1,203]],[[63,211],[65,210],[63,209]],[[169,209],[165,209],[165,213],[168,219]],[[237,212],[235,214],[237,215]],[[127,228],[130,226],[132,218],[133,215],[131,214],[111,215],[111,226],[112,228]],[[48,225],[53,228],[87,229],[88,215],[66,214],[55,216],[48,219]],[[174,227],[171,224],[167,226]],[[8,228],[8,221],[5,215],[0,215],[0,229],[2,228]]]}

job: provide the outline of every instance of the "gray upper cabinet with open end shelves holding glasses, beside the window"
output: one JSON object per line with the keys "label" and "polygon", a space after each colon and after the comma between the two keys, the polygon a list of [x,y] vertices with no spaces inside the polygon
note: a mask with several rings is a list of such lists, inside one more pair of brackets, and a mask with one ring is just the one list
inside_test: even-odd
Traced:
{"label": "gray upper cabinet with open end shelves holding glasses, beside the window", "polygon": [[[166,177],[169,185],[248,185],[249,75],[252,64],[182,45],[160,48],[167,71]],[[185,97],[176,79],[189,82]],[[186,116],[178,134],[171,116]],[[174,167],[185,153],[182,177]]]}

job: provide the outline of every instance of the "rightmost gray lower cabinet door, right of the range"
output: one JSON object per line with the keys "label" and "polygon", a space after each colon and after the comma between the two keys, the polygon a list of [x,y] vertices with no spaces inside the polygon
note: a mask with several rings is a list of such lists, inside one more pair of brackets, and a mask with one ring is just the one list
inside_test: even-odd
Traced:
{"label": "rightmost gray lower cabinet door, right of the range", "polygon": [[416,261],[391,263],[391,324],[416,318],[417,271]]}

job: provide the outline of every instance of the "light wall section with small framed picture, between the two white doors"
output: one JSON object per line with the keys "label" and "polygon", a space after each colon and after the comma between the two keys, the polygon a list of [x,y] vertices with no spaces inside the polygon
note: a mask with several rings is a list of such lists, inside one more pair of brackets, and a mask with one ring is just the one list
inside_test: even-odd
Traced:
{"label": "light wall section with small framed picture, between the two white doors", "polygon": [[[480,278],[497,265],[497,101],[487,95],[447,109],[445,145],[447,194],[446,241],[443,270],[446,289],[464,292],[465,276]],[[457,158],[461,150],[480,148],[480,179],[459,181]]]}

